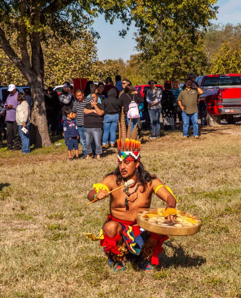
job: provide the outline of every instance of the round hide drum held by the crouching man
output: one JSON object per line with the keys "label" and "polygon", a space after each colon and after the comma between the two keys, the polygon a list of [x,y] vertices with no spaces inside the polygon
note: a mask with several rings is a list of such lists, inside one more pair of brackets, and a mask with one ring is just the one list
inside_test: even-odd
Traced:
{"label": "round hide drum held by the crouching man", "polygon": [[137,224],[159,235],[186,236],[199,232],[200,218],[191,213],[176,210],[177,218],[168,221],[162,216],[164,211],[165,208],[144,209],[137,215]]}

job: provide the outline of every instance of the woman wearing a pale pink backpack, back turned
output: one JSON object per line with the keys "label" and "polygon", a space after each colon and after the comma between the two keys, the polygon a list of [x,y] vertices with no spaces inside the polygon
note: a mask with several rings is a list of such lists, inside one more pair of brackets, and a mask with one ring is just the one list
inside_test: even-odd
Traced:
{"label": "woman wearing a pale pink backpack, back turned", "polygon": [[133,92],[136,93],[136,89],[131,84],[127,84],[124,93],[119,98],[126,114],[127,125],[129,125],[131,118],[131,132],[136,123],[140,128],[139,104],[144,101],[140,94],[134,94]]}

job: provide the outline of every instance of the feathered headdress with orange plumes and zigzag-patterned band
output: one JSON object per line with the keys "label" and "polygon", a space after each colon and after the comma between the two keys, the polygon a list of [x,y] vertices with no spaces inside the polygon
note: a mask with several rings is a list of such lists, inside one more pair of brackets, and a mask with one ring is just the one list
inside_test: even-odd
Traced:
{"label": "feathered headdress with orange plumes and zigzag-patterned band", "polygon": [[138,136],[137,123],[133,128],[131,134],[131,119],[126,131],[125,126],[125,115],[122,107],[121,112],[121,123],[118,122],[119,126],[119,139],[117,140],[117,151],[118,151],[118,161],[122,162],[125,160],[128,161],[139,161],[140,160],[140,148],[141,140]]}

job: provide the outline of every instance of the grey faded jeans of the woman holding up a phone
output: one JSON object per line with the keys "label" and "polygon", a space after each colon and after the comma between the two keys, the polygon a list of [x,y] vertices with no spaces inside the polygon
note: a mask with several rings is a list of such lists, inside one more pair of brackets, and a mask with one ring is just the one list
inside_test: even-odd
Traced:
{"label": "grey faded jeans of the woman holding up a phone", "polygon": [[96,149],[95,154],[101,154],[101,137],[102,137],[102,129],[101,128],[89,128],[85,127],[85,140],[86,140],[86,153],[90,154],[92,153],[91,148],[91,139],[94,139]]}

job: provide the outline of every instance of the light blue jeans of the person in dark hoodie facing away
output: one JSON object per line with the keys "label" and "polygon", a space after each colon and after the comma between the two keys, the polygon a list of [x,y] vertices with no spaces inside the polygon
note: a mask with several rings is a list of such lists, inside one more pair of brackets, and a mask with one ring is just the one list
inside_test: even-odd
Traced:
{"label": "light blue jeans of the person in dark hoodie facing away", "polygon": [[119,114],[107,114],[104,116],[104,134],[103,145],[107,144],[108,137],[110,135],[110,144],[115,144],[116,141],[116,128],[118,125]]}

